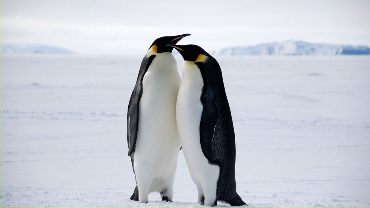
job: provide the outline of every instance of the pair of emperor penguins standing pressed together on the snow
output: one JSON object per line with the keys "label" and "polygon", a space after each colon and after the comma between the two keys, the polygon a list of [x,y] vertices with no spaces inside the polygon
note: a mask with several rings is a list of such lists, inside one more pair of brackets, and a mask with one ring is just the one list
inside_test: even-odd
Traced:
{"label": "pair of emperor penguins standing pressed together on the snow", "polygon": [[[180,148],[198,189],[198,203],[245,205],[236,193],[235,134],[218,62],[201,47],[176,45],[185,36],[160,37],[142,60],[127,113],[128,155],[137,186],[172,201]],[[171,54],[184,58],[182,80]]]}

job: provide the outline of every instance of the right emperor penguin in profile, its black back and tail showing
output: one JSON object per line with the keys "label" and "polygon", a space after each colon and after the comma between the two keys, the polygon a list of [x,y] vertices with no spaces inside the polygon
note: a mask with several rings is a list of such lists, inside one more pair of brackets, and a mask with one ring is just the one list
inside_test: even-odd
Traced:
{"label": "right emperor penguin in profile, its black back and tail showing", "polygon": [[176,120],[198,203],[246,205],[236,193],[235,133],[221,68],[196,45],[167,44],[184,58]]}

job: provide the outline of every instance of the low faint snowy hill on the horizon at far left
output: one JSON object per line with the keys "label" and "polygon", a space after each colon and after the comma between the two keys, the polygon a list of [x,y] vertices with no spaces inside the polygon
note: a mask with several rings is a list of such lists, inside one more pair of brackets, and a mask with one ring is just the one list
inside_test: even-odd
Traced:
{"label": "low faint snowy hill on the horizon at far left", "polygon": [[1,44],[1,53],[71,54],[73,52],[65,48],[41,44]]}

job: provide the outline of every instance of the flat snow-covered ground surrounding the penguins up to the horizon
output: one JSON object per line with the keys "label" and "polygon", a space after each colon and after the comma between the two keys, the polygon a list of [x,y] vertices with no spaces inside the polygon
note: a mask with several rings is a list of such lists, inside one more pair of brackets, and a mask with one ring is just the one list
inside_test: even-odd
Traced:
{"label": "flat snow-covered ground surrounding the penguins up to the horizon", "polygon": [[[216,58],[248,207],[370,206],[370,57]],[[174,202],[129,199],[141,59],[2,54],[1,207],[205,207],[182,151]]]}

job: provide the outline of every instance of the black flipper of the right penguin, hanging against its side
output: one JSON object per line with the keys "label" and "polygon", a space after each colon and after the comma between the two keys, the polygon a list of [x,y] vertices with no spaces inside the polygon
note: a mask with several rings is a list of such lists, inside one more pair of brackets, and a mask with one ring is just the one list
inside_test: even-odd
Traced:
{"label": "black flipper of the right penguin, hanging against its side", "polygon": [[218,121],[218,108],[215,100],[209,98],[211,96],[202,96],[203,112],[199,132],[203,154],[209,162],[213,162],[212,141]]}

